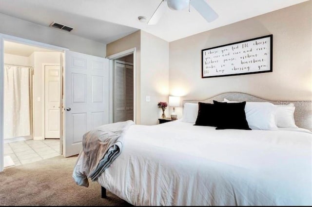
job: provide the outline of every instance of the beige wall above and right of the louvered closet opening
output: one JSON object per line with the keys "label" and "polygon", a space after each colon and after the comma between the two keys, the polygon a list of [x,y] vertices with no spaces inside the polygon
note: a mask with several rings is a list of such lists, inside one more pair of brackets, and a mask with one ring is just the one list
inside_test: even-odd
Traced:
{"label": "beige wall above and right of the louvered closet opening", "polygon": [[106,55],[114,55],[119,52],[136,48],[136,79],[137,79],[137,85],[136,85],[136,121],[137,124],[141,123],[141,113],[140,113],[140,65],[141,65],[141,31],[134,32],[124,38],[121,38],[117,41],[113,41],[106,45]]}

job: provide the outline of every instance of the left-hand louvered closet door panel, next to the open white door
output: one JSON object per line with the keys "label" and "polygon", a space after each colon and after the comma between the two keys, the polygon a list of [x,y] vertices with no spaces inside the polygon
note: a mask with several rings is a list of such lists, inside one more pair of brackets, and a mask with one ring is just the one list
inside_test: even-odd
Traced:
{"label": "left-hand louvered closet door panel, next to the open white door", "polygon": [[125,65],[116,63],[115,66],[115,122],[126,120],[125,100]]}

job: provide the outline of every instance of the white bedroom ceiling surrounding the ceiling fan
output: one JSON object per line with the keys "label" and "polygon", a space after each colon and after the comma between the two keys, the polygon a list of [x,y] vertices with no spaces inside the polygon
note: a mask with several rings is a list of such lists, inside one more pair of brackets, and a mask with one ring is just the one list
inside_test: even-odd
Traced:
{"label": "white bedroom ceiling surrounding the ceiling fan", "polygon": [[211,23],[192,7],[191,12],[168,8],[156,25],[137,20],[148,20],[161,0],[0,0],[0,12],[45,26],[56,21],[74,27],[72,34],[103,43],[138,29],[170,42],[307,0],[206,1],[219,15]]}

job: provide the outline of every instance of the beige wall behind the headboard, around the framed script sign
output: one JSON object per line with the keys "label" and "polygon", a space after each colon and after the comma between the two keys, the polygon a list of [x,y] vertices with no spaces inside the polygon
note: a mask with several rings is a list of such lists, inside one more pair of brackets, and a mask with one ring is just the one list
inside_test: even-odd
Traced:
{"label": "beige wall behind the headboard, around the framed script sign", "polygon": [[[311,21],[312,1],[307,1],[170,42],[170,94],[202,100],[239,91],[271,100],[311,100]],[[273,72],[201,78],[202,49],[270,34]]]}

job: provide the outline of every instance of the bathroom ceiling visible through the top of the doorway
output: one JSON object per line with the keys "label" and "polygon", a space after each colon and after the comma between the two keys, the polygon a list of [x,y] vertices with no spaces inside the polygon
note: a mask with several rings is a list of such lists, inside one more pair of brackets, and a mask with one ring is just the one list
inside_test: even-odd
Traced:
{"label": "bathroom ceiling visible through the top of the doorway", "polygon": [[12,41],[4,41],[4,53],[29,57],[33,52],[56,52],[41,47],[20,44]]}

